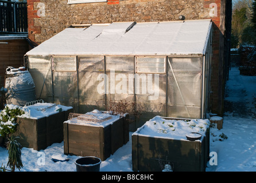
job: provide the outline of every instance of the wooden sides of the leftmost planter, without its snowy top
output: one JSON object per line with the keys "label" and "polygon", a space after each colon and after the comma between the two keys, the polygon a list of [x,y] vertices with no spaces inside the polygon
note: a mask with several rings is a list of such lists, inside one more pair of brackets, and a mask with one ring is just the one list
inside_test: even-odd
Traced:
{"label": "wooden sides of the leftmost planter, without its snowy top", "polygon": [[63,122],[68,119],[71,112],[73,109],[38,119],[18,118],[18,129],[14,136],[20,137],[18,142],[22,147],[34,150],[60,143],[63,141]]}

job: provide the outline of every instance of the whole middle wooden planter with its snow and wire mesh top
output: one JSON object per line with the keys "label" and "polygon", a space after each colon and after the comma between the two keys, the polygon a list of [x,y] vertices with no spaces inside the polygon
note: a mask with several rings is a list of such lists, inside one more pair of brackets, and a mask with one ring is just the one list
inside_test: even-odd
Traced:
{"label": "whole middle wooden planter with its snow and wire mesh top", "polygon": [[123,117],[93,110],[64,122],[64,154],[96,156],[102,161],[127,142]]}

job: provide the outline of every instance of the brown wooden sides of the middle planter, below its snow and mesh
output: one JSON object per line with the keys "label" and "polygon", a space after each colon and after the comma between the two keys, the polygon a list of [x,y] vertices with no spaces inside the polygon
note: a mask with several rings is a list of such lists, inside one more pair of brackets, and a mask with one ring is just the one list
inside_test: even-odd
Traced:
{"label": "brown wooden sides of the middle planter, below its snow and mesh", "polygon": [[68,122],[64,122],[63,125],[64,154],[96,156],[104,161],[129,141],[129,126],[123,117],[107,126]]}

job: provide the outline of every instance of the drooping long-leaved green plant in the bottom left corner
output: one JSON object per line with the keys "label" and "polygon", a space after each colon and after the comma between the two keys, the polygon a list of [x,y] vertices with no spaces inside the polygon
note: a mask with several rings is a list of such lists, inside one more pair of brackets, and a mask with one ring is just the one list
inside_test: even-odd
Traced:
{"label": "drooping long-leaved green plant in the bottom left corner", "polygon": [[21,160],[21,144],[16,140],[18,137],[11,136],[8,138],[7,150],[8,150],[8,162],[7,167],[11,169],[12,172],[15,171],[15,168],[19,170],[23,168]]}

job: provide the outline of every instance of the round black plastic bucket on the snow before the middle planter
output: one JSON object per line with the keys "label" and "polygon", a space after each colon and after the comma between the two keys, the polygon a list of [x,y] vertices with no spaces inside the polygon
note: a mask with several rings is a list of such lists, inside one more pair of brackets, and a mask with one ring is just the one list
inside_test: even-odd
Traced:
{"label": "round black plastic bucket on the snow before the middle planter", "polygon": [[76,172],[99,172],[101,162],[100,158],[94,156],[78,158],[75,162]]}

